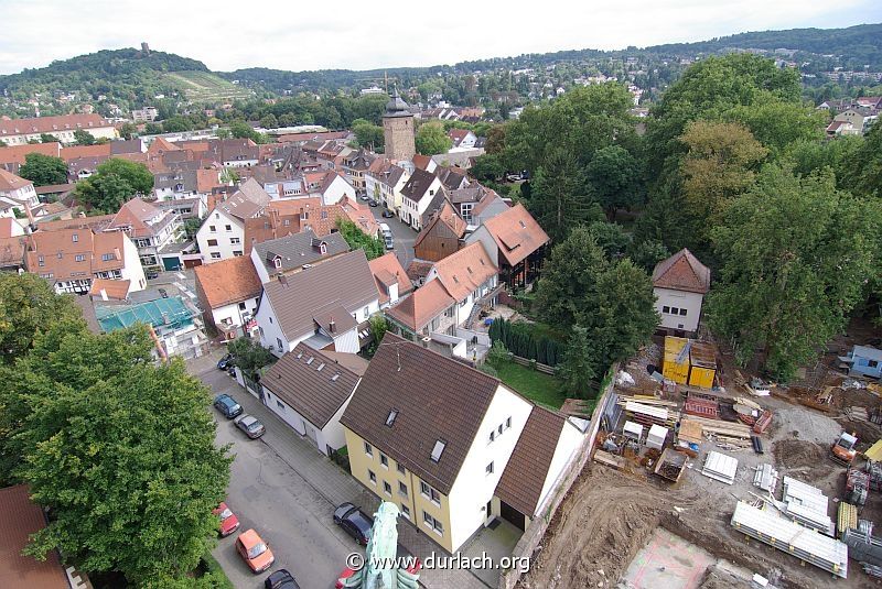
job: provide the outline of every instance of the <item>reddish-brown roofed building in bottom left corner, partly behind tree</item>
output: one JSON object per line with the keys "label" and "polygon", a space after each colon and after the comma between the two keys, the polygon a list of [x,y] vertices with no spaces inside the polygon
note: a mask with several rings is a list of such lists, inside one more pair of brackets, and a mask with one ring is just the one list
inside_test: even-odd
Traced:
{"label": "reddish-brown roofed building in bottom left corner, partly behind tree", "polygon": [[[77,574],[74,579],[68,575],[57,550],[40,560],[22,554],[31,545],[31,536],[46,527],[46,515],[31,501],[26,484],[0,489],[0,587],[85,589],[85,576]],[[73,568],[71,572],[75,572]]]}

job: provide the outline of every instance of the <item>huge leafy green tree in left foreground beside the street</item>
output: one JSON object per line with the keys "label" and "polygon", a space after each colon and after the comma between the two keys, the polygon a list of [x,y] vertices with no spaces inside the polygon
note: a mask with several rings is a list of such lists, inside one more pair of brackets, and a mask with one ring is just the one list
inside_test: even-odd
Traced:
{"label": "huge leafy green tree in left foreground beside the street", "polygon": [[3,454],[50,511],[26,554],[139,583],[185,576],[211,547],[232,459],[214,447],[208,390],[150,349],[143,328],[56,326],[6,371]]}

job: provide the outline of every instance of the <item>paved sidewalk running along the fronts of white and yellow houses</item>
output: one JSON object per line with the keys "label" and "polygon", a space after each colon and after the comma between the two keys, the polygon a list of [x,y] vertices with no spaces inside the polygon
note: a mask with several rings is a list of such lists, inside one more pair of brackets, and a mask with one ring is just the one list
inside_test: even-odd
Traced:
{"label": "paved sidewalk running along the fronts of white and yellow houses", "polygon": [[[190,362],[191,373],[200,377],[206,384],[214,384],[212,389],[215,394],[222,392],[234,394],[246,413],[256,416],[266,425],[267,433],[260,440],[327,501],[327,516],[331,517],[334,508],[345,502],[358,505],[368,514],[373,514],[379,506],[379,498],[362,487],[341,467],[319,454],[311,443],[263,406],[251,393],[239,386],[234,379],[217,370],[215,363],[219,357],[220,353],[215,351]],[[223,380],[218,382],[218,378]],[[220,385],[218,386],[218,384]],[[430,541],[426,534],[418,532],[404,517],[400,517],[398,522],[398,542],[410,554],[422,559],[426,559],[432,552],[445,554],[443,548]],[[423,569],[420,574],[420,583],[430,589],[495,587],[495,585],[491,586],[482,581],[469,570]]]}

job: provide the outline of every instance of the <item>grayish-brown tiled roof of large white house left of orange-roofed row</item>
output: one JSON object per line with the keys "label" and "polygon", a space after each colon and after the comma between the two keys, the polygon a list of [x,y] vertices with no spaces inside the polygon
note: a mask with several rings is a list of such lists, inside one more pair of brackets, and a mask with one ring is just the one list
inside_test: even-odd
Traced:
{"label": "grayish-brown tiled roof of large white house left of orange-roofed row", "polygon": [[352,314],[379,299],[377,283],[361,249],[269,282],[263,285],[263,295],[289,340],[314,331],[314,317],[325,310],[340,306]]}

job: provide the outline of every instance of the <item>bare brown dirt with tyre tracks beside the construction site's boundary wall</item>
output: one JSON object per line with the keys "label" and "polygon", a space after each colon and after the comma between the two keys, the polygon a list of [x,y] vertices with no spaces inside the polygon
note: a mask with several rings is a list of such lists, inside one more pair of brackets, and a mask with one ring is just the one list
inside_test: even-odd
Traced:
{"label": "bare brown dirt with tyre tracks beside the construction site's boundary wall", "polygon": [[645,477],[596,466],[582,472],[570,493],[549,527],[555,541],[539,553],[520,587],[613,586],[674,509]]}

